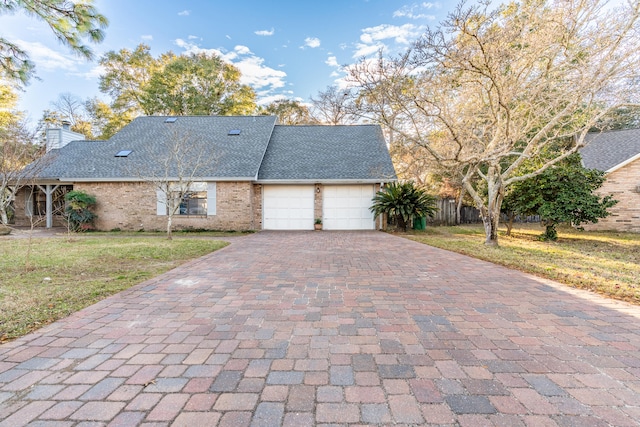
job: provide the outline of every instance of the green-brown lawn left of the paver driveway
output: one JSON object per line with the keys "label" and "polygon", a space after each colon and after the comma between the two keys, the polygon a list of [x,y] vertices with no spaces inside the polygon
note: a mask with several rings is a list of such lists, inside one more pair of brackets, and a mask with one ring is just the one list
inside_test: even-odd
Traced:
{"label": "green-brown lawn left of the paver driveway", "polygon": [[35,238],[31,245],[28,239],[0,241],[0,342],[227,245],[204,236],[160,236],[91,233]]}

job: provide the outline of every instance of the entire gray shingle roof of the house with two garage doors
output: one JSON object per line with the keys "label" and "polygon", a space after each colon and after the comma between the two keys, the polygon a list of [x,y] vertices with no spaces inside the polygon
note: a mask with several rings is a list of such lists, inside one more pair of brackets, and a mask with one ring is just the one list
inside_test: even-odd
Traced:
{"label": "entire gray shingle roof of the house with two garage doors", "polygon": [[[186,151],[182,160],[201,164],[196,179],[396,179],[377,125],[280,126],[274,116],[179,116],[171,117],[170,123],[167,119],[138,117],[107,141],[73,141],[51,150],[37,178],[68,182],[180,178],[179,170],[167,173],[163,165],[178,141],[182,153]],[[123,155],[117,156],[120,152]],[[193,168],[186,169],[190,175]]]}

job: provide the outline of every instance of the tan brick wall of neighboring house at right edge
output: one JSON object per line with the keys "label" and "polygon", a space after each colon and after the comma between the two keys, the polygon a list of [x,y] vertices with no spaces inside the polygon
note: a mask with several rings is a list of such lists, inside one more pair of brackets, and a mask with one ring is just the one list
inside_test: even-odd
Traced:
{"label": "tan brick wall of neighboring house at right edge", "polygon": [[640,159],[611,172],[598,190],[599,194],[613,194],[618,204],[609,209],[611,215],[597,224],[587,224],[586,230],[617,230],[640,233]]}

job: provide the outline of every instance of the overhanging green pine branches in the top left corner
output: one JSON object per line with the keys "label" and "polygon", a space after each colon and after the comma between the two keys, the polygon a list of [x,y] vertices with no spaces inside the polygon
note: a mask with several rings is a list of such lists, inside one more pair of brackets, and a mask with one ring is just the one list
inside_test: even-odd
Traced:
{"label": "overhanging green pine branches in the top left corner", "polygon": [[[93,52],[84,41],[100,43],[108,25],[107,18],[98,13],[93,3],[93,0],[3,0],[0,14],[23,11],[40,19],[73,52],[93,59]],[[26,84],[34,74],[34,64],[17,44],[0,37],[0,71],[9,80]]]}

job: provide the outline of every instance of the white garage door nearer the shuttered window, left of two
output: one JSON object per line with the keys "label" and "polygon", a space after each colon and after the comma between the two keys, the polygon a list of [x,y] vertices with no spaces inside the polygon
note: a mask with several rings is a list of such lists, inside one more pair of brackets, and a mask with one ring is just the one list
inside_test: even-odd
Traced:
{"label": "white garage door nearer the shuttered window, left of two", "polygon": [[265,230],[313,230],[312,185],[265,185],[263,221]]}

